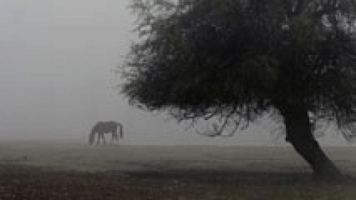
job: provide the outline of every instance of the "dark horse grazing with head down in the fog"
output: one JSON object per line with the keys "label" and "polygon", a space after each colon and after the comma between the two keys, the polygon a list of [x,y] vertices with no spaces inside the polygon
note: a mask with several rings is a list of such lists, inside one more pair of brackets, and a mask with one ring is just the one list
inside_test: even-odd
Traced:
{"label": "dark horse grazing with head down in the fog", "polygon": [[122,124],[116,121],[99,121],[97,122],[90,131],[89,134],[89,144],[93,144],[95,140],[95,134],[98,134],[98,139],[96,141],[97,144],[100,143],[100,138],[103,139],[103,143],[105,144],[104,133],[111,133],[111,143],[115,140],[119,142],[118,132],[120,134],[120,138],[123,137]]}

